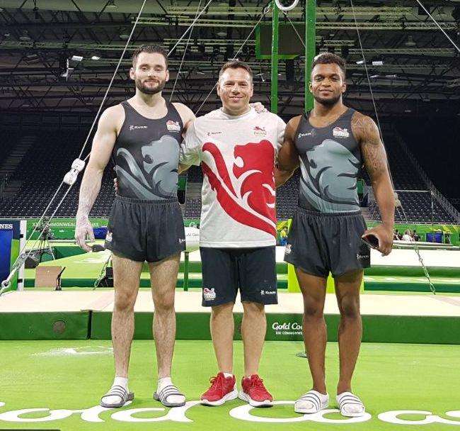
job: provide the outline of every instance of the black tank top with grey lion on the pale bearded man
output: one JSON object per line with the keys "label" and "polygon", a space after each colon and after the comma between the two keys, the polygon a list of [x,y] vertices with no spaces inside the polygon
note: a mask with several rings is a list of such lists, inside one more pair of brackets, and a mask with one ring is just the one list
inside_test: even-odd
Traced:
{"label": "black tank top with grey lion on the pale bearded man", "polygon": [[146,200],[177,198],[183,133],[178,111],[166,101],[166,116],[151,120],[127,101],[121,104],[125,122],[113,150],[118,194]]}

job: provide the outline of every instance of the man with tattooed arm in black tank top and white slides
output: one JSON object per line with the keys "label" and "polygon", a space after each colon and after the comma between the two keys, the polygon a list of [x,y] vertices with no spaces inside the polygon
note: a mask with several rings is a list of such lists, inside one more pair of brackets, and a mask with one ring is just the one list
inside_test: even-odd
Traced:
{"label": "man with tattooed arm in black tank top and white slides", "polygon": [[[313,388],[294,409],[316,413],[328,406],[323,308],[331,273],[340,310],[337,401],[342,415],[357,417],[365,409],[352,393],[351,381],[362,335],[360,285],[363,269],[370,265],[369,246],[362,237],[378,240],[382,254],[391,252],[395,203],[379,130],[371,118],[343,105],[345,89],[345,61],[330,53],[318,55],[311,69],[314,109],[289,121],[278,164],[287,174],[301,169],[299,206],[284,260],[296,268],[304,297],[304,337]],[[370,230],[357,196],[363,162],[382,218],[381,225]]]}

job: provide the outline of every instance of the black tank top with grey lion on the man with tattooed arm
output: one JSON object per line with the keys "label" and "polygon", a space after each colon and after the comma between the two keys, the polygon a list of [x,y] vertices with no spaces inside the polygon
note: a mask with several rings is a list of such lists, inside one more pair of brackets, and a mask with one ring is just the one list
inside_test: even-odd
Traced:
{"label": "black tank top with grey lion on the man with tattooed arm", "polygon": [[357,176],[361,149],[352,133],[348,108],[334,123],[323,128],[302,116],[294,137],[301,169],[299,206],[323,213],[358,211]]}

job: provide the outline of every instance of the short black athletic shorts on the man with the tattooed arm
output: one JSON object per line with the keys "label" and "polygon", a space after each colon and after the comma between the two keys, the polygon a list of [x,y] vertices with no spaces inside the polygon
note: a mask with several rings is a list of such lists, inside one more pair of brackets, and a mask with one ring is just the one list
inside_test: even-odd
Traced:
{"label": "short black athletic shorts on the man with the tattooed arm", "polygon": [[370,247],[361,211],[320,213],[297,208],[287,237],[284,261],[307,274],[334,277],[370,267]]}

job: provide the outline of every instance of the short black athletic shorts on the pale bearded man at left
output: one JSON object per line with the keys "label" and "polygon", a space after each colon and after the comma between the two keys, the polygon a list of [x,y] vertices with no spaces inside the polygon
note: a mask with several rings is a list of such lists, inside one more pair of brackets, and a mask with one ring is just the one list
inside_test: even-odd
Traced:
{"label": "short black athletic shorts on the pale bearded man at left", "polygon": [[185,250],[185,229],[177,199],[150,201],[116,196],[105,248],[137,262],[159,262]]}

